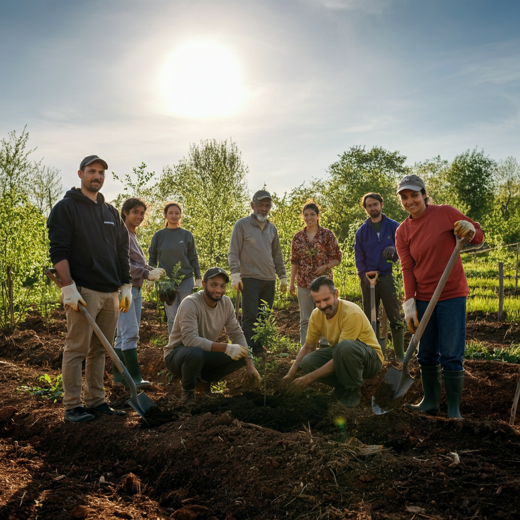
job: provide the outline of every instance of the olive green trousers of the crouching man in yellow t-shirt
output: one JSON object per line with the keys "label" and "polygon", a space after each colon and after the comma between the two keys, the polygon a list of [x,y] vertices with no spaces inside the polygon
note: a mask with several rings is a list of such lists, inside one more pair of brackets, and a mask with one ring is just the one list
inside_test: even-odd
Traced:
{"label": "olive green trousers of the crouching man in yellow t-shirt", "polygon": [[373,378],[383,366],[375,350],[359,340],[343,340],[335,347],[323,347],[307,354],[300,368],[308,374],[334,360],[334,373],[318,379],[336,388],[361,388],[365,379]]}

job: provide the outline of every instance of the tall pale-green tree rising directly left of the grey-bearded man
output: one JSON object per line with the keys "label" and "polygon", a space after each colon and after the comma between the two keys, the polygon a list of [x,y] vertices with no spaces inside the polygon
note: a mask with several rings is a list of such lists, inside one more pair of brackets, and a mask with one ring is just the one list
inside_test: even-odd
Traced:
{"label": "tall pale-green tree rising directly left of the grey-bearded man", "polygon": [[235,142],[215,139],[190,145],[187,158],[163,168],[154,193],[183,206],[183,227],[193,233],[202,270],[227,265],[233,225],[249,212],[247,172]]}

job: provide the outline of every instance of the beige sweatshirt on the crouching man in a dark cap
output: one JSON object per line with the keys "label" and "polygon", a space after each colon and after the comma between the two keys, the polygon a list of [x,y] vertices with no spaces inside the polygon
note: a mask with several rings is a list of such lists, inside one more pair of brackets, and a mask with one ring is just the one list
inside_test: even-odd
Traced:
{"label": "beige sweatshirt on the crouching man in a dark cap", "polygon": [[244,333],[235,316],[235,308],[227,296],[223,296],[212,309],[204,301],[204,291],[191,294],[180,302],[170,340],[164,347],[164,357],[179,345],[199,347],[209,352],[211,344],[224,327],[231,343],[247,348]]}

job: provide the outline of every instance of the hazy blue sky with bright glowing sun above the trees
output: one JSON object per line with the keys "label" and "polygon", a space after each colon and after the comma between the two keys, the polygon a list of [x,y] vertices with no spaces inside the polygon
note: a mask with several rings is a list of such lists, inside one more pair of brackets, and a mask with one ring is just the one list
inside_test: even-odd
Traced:
{"label": "hazy blue sky with bright glowing sun above the trees", "polygon": [[[0,0],[0,138],[79,184],[86,155],[158,178],[232,139],[251,192],[355,145],[520,159],[520,2]],[[122,185],[107,175],[108,200]]]}

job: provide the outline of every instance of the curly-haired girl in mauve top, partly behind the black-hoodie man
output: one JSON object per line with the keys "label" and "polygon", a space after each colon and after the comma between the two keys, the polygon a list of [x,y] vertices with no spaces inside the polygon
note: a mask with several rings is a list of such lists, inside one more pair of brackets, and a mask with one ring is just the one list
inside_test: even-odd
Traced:
{"label": "curly-haired girl in mauve top, partly behind the black-hoodie man", "polygon": [[[146,204],[136,198],[123,202],[121,218],[128,229],[130,238],[130,274],[132,276],[132,303],[127,313],[119,313],[118,332],[115,338],[114,350],[124,363],[126,370],[132,376],[137,388],[149,388],[150,382],[143,381],[139,362],[137,360],[137,342],[139,341],[139,327],[141,324],[142,283],[145,280],[158,280],[164,269],[154,269],[146,263],[141,246],[137,242],[135,230],[145,218]],[[128,386],[119,370],[112,363],[114,382]]]}

